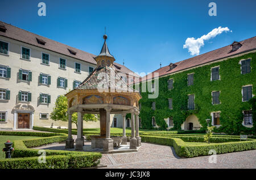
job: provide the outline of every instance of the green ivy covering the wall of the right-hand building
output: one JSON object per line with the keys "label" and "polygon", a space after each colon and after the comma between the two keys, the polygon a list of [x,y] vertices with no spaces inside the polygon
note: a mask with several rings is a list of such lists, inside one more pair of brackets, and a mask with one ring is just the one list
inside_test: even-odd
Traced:
{"label": "green ivy covering the wall of the right-hand building", "polygon": [[[241,74],[241,59],[251,58],[251,72]],[[219,73],[221,80],[210,81],[211,67],[220,66]],[[194,73],[193,85],[187,85],[187,74]],[[168,79],[174,79],[174,88],[168,90]],[[229,58],[225,61],[212,63],[177,74],[159,78],[158,98],[148,98],[149,92],[142,92],[141,113],[143,128],[152,128],[152,117],[155,117],[156,124],[166,129],[167,124],[164,118],[173,117],[175,130],[181,129],[181,124],[190,114],[195,114],[203,128],[207,127],[205,119],[212,119],[211,112],[220,111],[221,127],[218,132],[228,134],[239,134],[251,132],[254,128],[247,128],[242,125],[243,110],[250,110],[249,102],[242,102],[242,86],[253,85],[253,95],[256,95],[256,53],[241,55],[236,58]],[[141,85],[140,85],[141,88]],[[220,91],[221,104],[212,104],[212,91]],[[188,110],[188,95],[195,95],[195,110]],[[173,109],[168,109],[168,98],[172,98]],[[152,102],[155,101],[156,109],[152,110]],[[254,118],[255,120],[255,118]],[[254,132],[255,133],[255,132]]]}

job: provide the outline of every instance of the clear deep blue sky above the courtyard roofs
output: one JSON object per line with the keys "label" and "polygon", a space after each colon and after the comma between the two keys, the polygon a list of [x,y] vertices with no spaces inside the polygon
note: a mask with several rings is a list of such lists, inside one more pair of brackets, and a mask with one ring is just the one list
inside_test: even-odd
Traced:
{"label": "clear deep blue sky above the courtyard roofs", "polygon": [[[46,16],[38,16],[38,3]],[[217,16],[209,16],[210,2]],[[135,72],[152,72],[170,62],[193,57],[183,49],[188,37],[228,27],[204,42],[200,54],[256,35],[256,1],[12,1],[1,0],[0,20],[92,54],[99,54],[108,35],[116,62]],[[231,32],[232,31],[232,32]]]}

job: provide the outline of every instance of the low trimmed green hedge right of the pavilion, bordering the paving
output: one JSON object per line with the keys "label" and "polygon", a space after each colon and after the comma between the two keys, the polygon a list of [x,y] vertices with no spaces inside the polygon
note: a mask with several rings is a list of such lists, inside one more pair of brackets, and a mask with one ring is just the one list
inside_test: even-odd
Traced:
{"label": "low trimmed green hedge right of the pavilion, bordering the paving", "polygon": [[214,149],[217,154],[246,151],[256,149],[256,140],[247,140],[242,142],[226,142],[220,144],[202,144],[187,145],[180,138],[159,137],[159,136],[141,136],[143,142],[150,142],[162,145],[173,146],[175,152],[181,157],[197,157],[209,155],[210,149]]}

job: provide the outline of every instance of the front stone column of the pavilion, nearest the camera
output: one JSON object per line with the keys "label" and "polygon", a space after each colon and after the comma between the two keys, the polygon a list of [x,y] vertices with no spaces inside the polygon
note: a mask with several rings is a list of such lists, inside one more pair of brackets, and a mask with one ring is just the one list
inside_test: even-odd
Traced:
{"label": "front stone column of the pavilion, nearest the camera", "polygon": [[110,138],[110,107],[106,107],[106,139],[102,140],[103,151],[109,153],[113,151],[113,140]]}

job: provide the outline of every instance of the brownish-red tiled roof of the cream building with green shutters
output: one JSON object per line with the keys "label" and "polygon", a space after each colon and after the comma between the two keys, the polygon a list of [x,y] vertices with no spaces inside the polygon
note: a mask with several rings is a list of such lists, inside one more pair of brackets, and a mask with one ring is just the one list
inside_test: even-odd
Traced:
{"label": "brownish-red tiled roof of the cream building with green shutters", "polygon": [[[47,37],[36,35],[35,33],[28,32],[24,29],[15,27],[5,22],[0,21],[0,24],[4,25],[5,28],[7,29],[6,32],[0,31],[0,36],[12,38],[14,40],[18,40],[21,42],[25,42],[27,44],[38,46],[43,49],[51,50],[52,52],[64,54],[69,57],[79,59],[81,61],[92,63],[94,65],[97,64],[96,61],[94,60],[94,57],[96,57],[96,55],[94,54],[84,52],[83,50],[73,48],[71,46],[62,44],[57,41],[53,41]],[[39,44],[37,38],[41,41],[46,42],[46,44],[45,45]],[[76,55],[71,54],[70,52],[75,52]],[[121,69],[119,70],[116,68],[118,72],[123,72],[125,74],[129,74],[129,72],[133,72],[129,68],[123,65],[119,65],[118,63],[114,62],[114,65],[121,67]]]}

